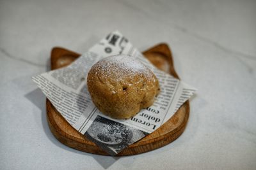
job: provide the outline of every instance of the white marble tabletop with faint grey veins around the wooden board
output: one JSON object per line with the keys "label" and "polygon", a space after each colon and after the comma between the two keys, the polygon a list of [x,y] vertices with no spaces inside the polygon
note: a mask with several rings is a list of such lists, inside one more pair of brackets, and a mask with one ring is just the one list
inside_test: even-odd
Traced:
{"label": "white marble tabletop with faint grey veins around the wooden board", "polygon": [[[0,1],[0,169],[256,169],[255,17],[256,1]],[[57,141],[31,81],[53,46],[83,53],[115,29],[168,43],[198,89],[179,139],[120,158]]]}

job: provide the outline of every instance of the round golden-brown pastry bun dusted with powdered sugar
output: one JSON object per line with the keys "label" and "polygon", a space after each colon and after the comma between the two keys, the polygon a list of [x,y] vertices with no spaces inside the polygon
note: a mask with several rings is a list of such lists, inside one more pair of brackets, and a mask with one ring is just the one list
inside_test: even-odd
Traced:
{"label": "round golden-brown pastry bun dusted with powdered sugar", "polygon": [[106,57],[92,66],[88,91],[97,108],[112,118],[130,118],[154,103],[159,83],[152,71],[129,55]]}

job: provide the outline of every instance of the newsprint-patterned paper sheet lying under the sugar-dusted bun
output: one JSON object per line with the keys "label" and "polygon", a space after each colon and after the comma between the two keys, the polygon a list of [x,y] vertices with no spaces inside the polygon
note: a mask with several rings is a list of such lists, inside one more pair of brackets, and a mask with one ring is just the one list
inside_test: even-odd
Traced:
{"label": "newsprint-patterned paper sheet lying under the sugar-dusted bun", "polygon": [[[143,62],[156,74],[161,89],[152,106],[124,120],[103,115],[93,104],[86,87],[87,74],[93,64],[117,54],[131,55]],[[32,79],[72,127],[110,155],[156,131],[195,93],[193,87],[153,66],[118,31],[108,34],[69,66]]]}

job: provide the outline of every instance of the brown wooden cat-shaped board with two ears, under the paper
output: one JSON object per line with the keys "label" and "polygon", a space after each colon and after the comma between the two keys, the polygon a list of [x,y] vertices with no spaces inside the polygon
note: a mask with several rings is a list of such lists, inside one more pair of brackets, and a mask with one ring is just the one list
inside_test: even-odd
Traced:
{"label": "brown wooden cat-shaped board with two ears, under the paper", "polygon": [[[176,78],[179,78],[173,67],[172,53],[166,44],[159,44],[149,48],[143,55],[147,57],[152,64],[159,69],[170,73]],[[53,48],[51,53],[51,69],[58,69],[67,66],[72,61],[77,59],[80,54],[71,52],[65,48]],[[83,134],[74,129],[68,122],[61,116],[61,114],[52,106],[51,102],[46,100],[47,108],[47,121],[52,134],[64,145],[67,145],[76,150],[83,152],[95,153],[100,155],[108,155],[99,146],[86,139]],[[171,143],[184,131],[189,117],[189,102],[182,104],[179,110],[170,118],[165,124],[161,125],[159,129],[152,132],[145,138],[137,141],[129,147],[118,153],[117,156],[135,155],[138,153],[148,152],[161,146]]]}

